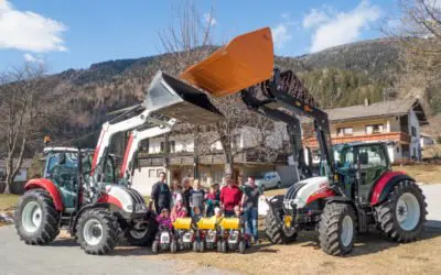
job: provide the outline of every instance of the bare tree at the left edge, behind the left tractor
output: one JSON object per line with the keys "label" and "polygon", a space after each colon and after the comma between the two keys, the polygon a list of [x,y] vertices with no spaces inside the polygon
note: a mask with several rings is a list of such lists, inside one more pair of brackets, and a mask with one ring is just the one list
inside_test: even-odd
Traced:
{"label": "bare tree at the left edge, behind the left tractor", "polygon": [[[57,80],[45,77],[42,64],[25,64],[0,74],[0,158],[6,162],[4,193],[21,169],[26,151],[42,140],[43,124],[56,109]],[[45,123],[43,123],[43,120]]]}

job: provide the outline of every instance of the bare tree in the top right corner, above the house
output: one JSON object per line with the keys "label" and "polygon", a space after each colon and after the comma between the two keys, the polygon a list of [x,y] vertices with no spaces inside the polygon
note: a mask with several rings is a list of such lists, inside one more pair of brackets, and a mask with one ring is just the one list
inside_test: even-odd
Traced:
{"label": "bare tree in the top right corner, above the house", "polygon": [[441,1],[400,0],[398,8],[384,28],[399,42],[405,72],[398,89],[404,97],[431,100],[428,92],[441,84]]}

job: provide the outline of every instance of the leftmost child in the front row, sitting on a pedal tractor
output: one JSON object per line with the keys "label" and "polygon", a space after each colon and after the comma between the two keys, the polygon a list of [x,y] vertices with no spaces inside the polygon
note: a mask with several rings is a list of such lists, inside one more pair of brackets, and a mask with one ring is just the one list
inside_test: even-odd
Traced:
{"label": "leftmost child in the front row, sitting on a pedal tractor", "polygon": [[178,244],[173,234],[172,221],[169,216],[169,209],[163,208],[161,213],[157,217],[159,224],[159,231],[152,243],[153,254],[158,254],[159,251],[169,250],[174,253],[178,250]]}

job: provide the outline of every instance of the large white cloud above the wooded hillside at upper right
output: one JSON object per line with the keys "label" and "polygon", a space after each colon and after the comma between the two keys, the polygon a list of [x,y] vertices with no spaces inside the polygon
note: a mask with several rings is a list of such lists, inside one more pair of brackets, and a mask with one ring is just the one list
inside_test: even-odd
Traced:
{"label": "large white cloud above the wooded hillside at upper right", "polygon": [[366,0],[348,12],[335,12],[330,8],[325,10],[311,10],[303,19],[303,26],[313,29],[311,52],[355,42],[362,31],[377,21],[381,13],[377,6]]}

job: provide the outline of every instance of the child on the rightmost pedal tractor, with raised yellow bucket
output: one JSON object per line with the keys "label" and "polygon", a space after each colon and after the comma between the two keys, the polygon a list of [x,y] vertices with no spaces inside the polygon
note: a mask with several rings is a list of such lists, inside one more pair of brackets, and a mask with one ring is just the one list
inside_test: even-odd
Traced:
{"label": "child on the rightmost pedal tractor, with raised yellow bucket", "polygon": [[240,208],[235,207],[235,217],[224,218],[220,222],[220,229],[224,234],[224,240],[220,242],[220,252],[239,251],[245,253],[249,245],[249,237],[245,234],[245,223],[243,221]]}

